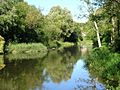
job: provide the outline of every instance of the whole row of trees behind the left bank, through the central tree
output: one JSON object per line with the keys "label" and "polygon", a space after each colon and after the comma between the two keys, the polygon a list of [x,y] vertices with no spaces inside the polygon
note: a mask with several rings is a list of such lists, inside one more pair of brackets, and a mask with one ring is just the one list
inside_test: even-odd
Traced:
{"label": "whole row of trees behind the left bank, through the central tree", "polygon": [[22,0],[1,0],[0,35],[6,43],[41,42],[56,47],[56,41],[76,43],[81,31],[65,8],[55,6],[44,16]]}

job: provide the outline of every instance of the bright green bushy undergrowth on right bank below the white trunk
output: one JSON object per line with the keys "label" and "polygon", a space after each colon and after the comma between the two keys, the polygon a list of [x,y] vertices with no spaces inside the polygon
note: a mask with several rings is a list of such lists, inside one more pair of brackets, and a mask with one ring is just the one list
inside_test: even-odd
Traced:
{"label": "bright green bushy undergrowth on right bank below the white trunk", "polygon": [[120,54],[106,47],[96,48],[86,62],[90,72],[101,79],[107,89],[120,90]]}

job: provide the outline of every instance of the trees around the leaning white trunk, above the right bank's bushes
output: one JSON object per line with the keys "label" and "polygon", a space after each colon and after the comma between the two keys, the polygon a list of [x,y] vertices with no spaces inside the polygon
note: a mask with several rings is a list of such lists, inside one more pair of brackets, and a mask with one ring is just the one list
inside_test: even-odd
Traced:
{"label": "trees around the leaning white trunk, above the right bank's bushes", "polygon": [[88,38],[93,40],[94,46],[98,46],[97,30],[94,21],[99,30],[99,36],[102,46],[111,46],[112,50],[120,51],[120,2],[119,0],[86,0],[89,6],[89,21],[83,28],[87,32]]}

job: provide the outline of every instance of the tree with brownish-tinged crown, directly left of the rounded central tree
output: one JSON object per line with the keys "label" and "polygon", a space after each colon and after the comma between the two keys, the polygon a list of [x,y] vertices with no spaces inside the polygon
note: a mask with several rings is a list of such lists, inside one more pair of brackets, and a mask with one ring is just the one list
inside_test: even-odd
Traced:
{"label": "tree with brownish-tinged crown, directly left of the rounded central tree", "polygon": [[17,37],[19,42],[41,41],[40,32],[43,27],[41,11],[24,2],[19,3],[16,9],[16,14],[18,15],[17,27],[19,28]]}

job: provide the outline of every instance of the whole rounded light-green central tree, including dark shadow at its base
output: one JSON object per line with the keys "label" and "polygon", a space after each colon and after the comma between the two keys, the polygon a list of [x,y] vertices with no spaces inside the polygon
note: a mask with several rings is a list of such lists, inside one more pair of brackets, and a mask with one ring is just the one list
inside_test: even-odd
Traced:
{"label": "whole rounded light-green central tree, including dark shadow at its base", "polygon": [[44,31],[48,42],[56,42],[58,40],[77,42],[78,36],[74,23],[69,10],[66,8],[62,9],[60,6],[52,7],[45,17]]}

